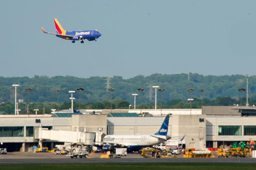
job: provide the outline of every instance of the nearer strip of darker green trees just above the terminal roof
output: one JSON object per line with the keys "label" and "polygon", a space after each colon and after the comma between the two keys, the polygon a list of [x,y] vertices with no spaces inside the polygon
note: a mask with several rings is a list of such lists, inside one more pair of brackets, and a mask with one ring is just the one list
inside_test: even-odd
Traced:
{"label": "nearer strip of darker green trees just above the terminal roof", "polygon": [[[134,103],[129,103],[128,101],[124,101],[121,99],[113,99],[112,101],[103,100],[102,102],[95,102],[95,103],[80,103],[80,109],[111,109],[111,102],[112,102],[112,109],[134,109]],[[194,98],[191,102],[192,109],[201,109],[203,106],[240,106],[240,100],[232,99],[231,97],[217,97],[216,99],[208,99],[208,98]],[[248,103],[256,102],[256,98],[249,98]],[[242,105],[246,105],[246,97],[242,97]],[[0,112],[5,112],[6,114],[14,114],[14,103],[6,102],[0,105]],[[39,109],[37,114],[51,114],[52,109],[55,111],[58,108],[58,103],[56,102],[35,102],[30,104],[29,106],[29,113],[35,114],[34,109]],[[139,101],[136,103],[136,109],[154,109],[155,103],[140,103]],[[161,108],[161,101],[157,102],[157,109]],[[162,102],[162,109],[187,109],[190,108],[190,101],[181,100],[181,99],[172,99],[167,102]],[[18,104],[19,114],[27,114],[28,107],[20,103]],[[63,102],[59,105],[59,110],[67,110],[71,109],[71,101]],[[73,109],[79,110],[79,103],[73,102]]]}

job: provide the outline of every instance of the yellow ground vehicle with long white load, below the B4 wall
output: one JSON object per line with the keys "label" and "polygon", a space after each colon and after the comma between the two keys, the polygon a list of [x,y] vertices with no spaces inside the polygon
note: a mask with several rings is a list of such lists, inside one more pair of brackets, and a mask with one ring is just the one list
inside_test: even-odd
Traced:
{"label": "yellow ground vehicle with long white load, below the B4 wall", "polygon": [[185,149],[183,158],[209,158],[214,157],[213,151],[210,150],[193,150],[192,148]]}

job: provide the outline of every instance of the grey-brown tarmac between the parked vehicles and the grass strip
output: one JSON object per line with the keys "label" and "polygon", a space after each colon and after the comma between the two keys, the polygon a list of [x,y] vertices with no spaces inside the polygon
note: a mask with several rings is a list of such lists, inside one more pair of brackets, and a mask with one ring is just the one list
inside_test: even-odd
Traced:
{"label": "grey-brown tarmac between the parked vehicles and the grass strip", "polygon": [[128,153],[126,156],[113,155],[113,158],[99,158],[101,154],[90,154],[88,158],[71,158],[67,155],[59,155],[51,152],[7,152],[7,154],[0,154],[1,164],[69,164],[69,163],[184,163],[184,162],[209,162],[209,163],[256,163],[256,158],[183,158],[182,154],[177,155],[176,158],[145,158],[136,153]]}

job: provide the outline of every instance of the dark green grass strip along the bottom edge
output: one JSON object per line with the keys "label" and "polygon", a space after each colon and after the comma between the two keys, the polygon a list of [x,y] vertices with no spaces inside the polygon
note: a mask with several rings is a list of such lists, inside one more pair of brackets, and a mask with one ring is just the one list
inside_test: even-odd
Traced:
{"label": "dark green grass strip along the bottom edge", "polygon": [[251,170],[256,164],[245,163],[104,163],[104,164],[19,164],[0,165],[0,170]]}

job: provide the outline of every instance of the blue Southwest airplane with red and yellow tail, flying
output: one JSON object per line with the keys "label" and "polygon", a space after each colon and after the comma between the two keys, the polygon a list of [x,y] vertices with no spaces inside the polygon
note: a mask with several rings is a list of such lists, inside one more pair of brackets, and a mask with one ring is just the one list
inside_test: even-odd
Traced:
{"label": "blue Southwest airplane with red and yellow tail, flying", "polygon": [[55,23],[57,34],[47,33],[44,31],[44,29],[42,27],[43,32],[47,33],[47,34],[56,35],[57,37],[62,38],[62,39],[72,40],[73,43],[75,43],[76,40],[81,40],[81,43],[84,43],[83,40],[97,41],[96,39],[98,39],[101,36],[101,34],[97,30],[96,31],[89,30],[89,31],[68,32],[61,27],[60,23],[58,22],[58,20],[56,18],[54,19],[54,23]]}

